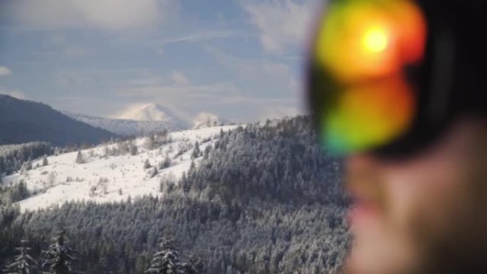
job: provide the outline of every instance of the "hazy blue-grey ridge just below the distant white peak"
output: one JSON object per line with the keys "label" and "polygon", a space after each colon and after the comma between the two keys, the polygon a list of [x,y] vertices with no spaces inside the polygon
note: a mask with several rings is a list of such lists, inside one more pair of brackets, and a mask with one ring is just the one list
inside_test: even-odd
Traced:
{"label": "hazy blue-grey ridge just below the distant white peak", "polygon": [[90,115],[83,115],[79,113],[61,111],[64,115],[71,117],[74,120],[84,122],[93,127],[99,127],[104,130],[116,133],[117,135],[125,136],[141,136],[150,132],[162,132],[163,130],[176,131],[187,130],[189,126],[187,122],[176,123],[174,120],[163,121],[136,121],[136,120],[120,120],[107,119],[103,117],[95,117]]}

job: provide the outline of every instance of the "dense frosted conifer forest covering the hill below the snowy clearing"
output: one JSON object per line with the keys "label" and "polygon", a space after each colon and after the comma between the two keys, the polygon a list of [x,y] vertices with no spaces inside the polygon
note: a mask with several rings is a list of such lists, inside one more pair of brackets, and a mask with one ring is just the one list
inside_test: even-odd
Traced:
{"label": "dense frosted conifer forest covering the hill below the snowy clearing", "polygon": [[342,164],[315,138],[308,117],[248,125],[221,132],[181,179],[163,178],[162,198],[70,202],[23,214],[15,204],[1,206],[0,265],[21,239],[38,258],[63,228],[77,251],[73,268],[83,273],[164,265],[154,260],[164,251],[161,237],[179,244],[177,254],[159,257],[177,255],[172,265],[181,269],[201,263],[199,273],[341,273],[350,244]]}

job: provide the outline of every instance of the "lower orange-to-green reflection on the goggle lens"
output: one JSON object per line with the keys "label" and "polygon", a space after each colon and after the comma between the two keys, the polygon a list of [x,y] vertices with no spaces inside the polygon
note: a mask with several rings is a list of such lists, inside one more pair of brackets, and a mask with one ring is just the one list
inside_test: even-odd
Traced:
{"label": "lower orange-to-green reflection on the goggle lens", "polygon": [[397,137],[413,115],[412,90],[400,77],[351,86],[325,113],[325,142],[331,152],[373,147]]}

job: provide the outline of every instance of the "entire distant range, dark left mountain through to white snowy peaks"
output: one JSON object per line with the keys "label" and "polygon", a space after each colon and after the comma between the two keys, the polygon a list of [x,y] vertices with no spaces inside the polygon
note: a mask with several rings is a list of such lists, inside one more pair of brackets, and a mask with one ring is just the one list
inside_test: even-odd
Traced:
{"label": "entire distant range, dark left mountain through to white snowy peaks", "polygon": [[141,136],[152,132],[201,129],[231,124],[209,112],[196,117],[177,115],[157,104],[137,105],[116,118],[54,110],[40,102],[0,95],[0,144],[49,142],[98,144],[113,137]]}

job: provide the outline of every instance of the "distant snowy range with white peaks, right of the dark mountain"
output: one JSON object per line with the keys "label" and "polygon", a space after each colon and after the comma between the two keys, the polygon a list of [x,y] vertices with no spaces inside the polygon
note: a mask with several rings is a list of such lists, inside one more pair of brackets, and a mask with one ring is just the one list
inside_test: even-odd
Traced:
{"label": "distant snowy range with white peaks, right of the dark mountain", "polygon": [[221,119],[209,112],[201,112],[194,119],[191,119],[177,115],[167,107],[153,103],[133,107],[114,119],[84,115],[66,110],[61,110],[61,112],[93,127],[99,127],[117,135],[125,136],[140,136],[163,130],[171,132],[230,124],[229,120]]}

